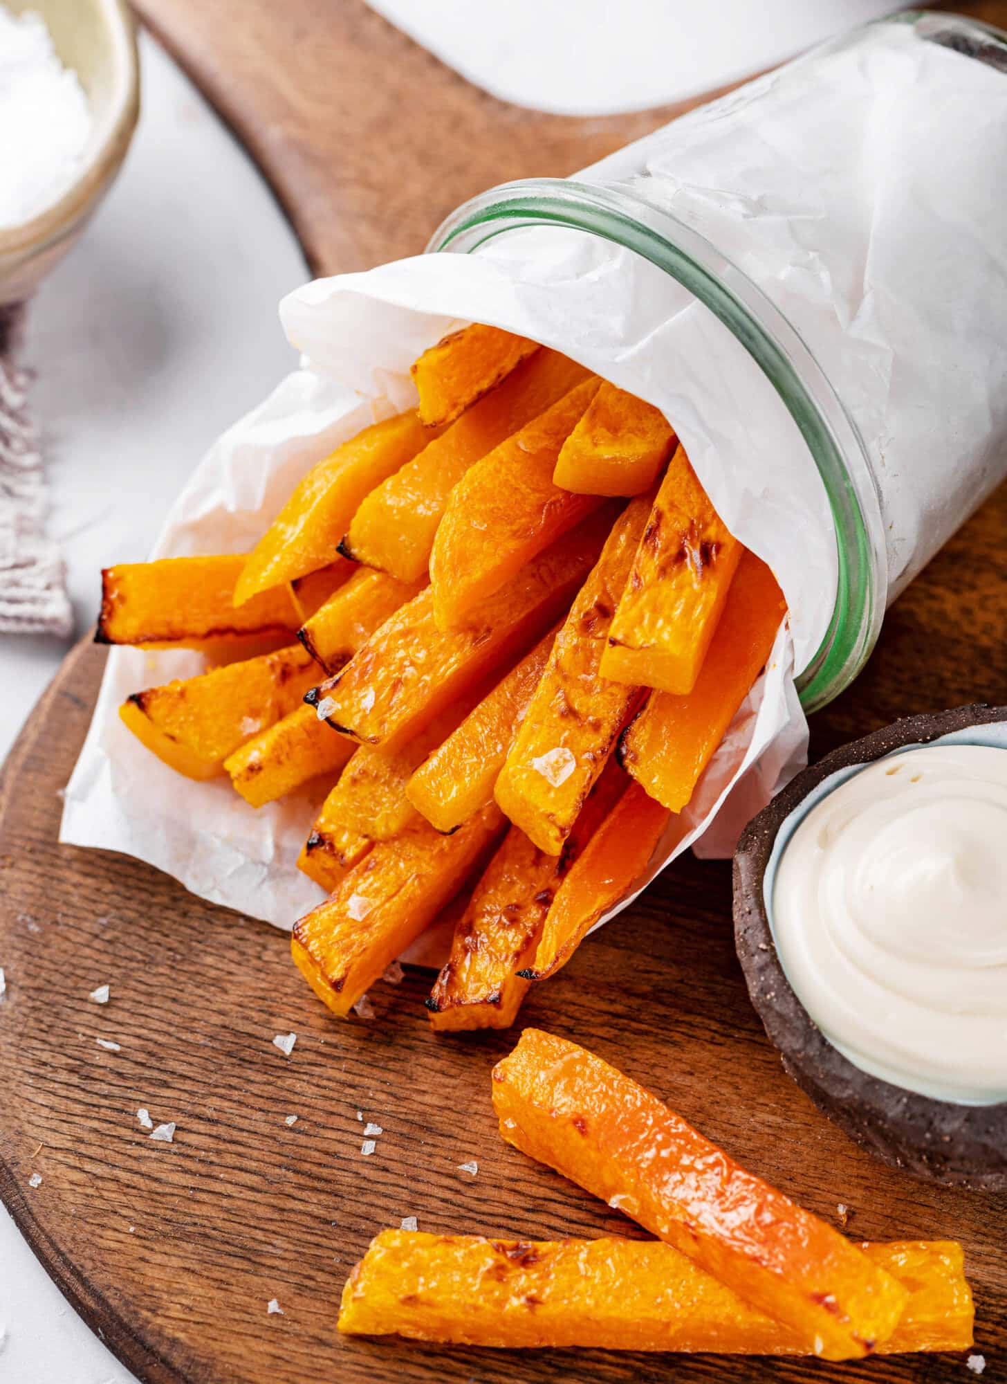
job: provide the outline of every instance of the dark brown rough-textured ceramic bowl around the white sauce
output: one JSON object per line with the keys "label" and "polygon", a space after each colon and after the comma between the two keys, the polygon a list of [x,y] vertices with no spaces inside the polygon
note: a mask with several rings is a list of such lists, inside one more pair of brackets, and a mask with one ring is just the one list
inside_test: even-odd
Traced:
{"label": "dark brown rough-textured ceramic bowl around the white sauce", "polygon": [[963,706],[907,717],[827,754],[744,829],[735,854],[735,943],[748,995],[786,1071],[852,1139],[917,1176],[1007,1190],[1007,1102],[934,1100],[871,1077],[815,1026],[787,980],[773,941],[765,876],[777,832],[819,783],[907,745],[1007,721],[1007,707]]}

